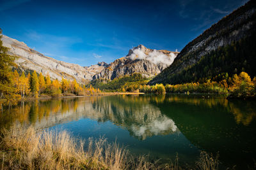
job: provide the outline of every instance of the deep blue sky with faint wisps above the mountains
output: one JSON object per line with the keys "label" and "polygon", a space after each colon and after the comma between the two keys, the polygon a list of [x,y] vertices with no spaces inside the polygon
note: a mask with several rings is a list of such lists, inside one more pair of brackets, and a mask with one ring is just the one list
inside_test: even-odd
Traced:
{"label": "deep blue sky with faint wisps above the mountains", "polygon": [[0,28],[57,60],[113,62],[140,44],[182,50],[247,0],[0,0]]}

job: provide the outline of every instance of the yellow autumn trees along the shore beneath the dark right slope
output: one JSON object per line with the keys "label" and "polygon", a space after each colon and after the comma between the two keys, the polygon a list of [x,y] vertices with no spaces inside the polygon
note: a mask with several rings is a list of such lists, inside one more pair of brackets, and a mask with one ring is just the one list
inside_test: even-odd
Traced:
{"label": "yellow autumn trees along the shore beneath the dark right slope", "polygon": [[[218,77],[217,77],[218,78]],[[216,78],[216,79],[217,79]],[[220,81],[206,80],[204,83],[181,83],[181,84],[163,84],[142,85],[139,81],[132,85],[122,86],[118,89],[120,92],[145,92],[154,94],[167,93],[211,93],[224,94],[230,98],[253,98],[256,96],[256,78],[253,80],[248,73],[241,72],[229,77],[227,74]]]}

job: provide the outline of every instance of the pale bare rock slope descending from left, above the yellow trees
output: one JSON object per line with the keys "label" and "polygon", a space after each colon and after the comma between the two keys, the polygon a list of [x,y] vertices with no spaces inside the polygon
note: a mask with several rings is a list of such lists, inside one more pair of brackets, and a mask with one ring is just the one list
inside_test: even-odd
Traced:
{"label": "pale bare rock slope descending from left, above the yellow trees", "polygon": [[3,35],[1,40],[4,46],[10,48],[9,53],[11,55],[19,56],[16,63],[20,69],[31,69],[37,73],[42,72],[44,75],[49,73],[52,79],[57,78],[61,80],[61,77],[64,77],[73,80],[76,78],[77,82],[84,83],[84,81],[92,80],[94,74],[99,73],[108,65],[105,62],[99,62],[90,67],[82,67],[78,64],[71,64],[46,57],[42,53],[29,48],[25,43],[9,38],[8,36]]}

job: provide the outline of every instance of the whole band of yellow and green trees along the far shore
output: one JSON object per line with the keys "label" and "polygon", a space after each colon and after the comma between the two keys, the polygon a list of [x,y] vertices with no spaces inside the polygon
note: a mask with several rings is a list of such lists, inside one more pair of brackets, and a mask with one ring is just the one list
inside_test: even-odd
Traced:
{"label": "whole band of yellow and green trees along the far shore", "polygon": [[[1,33],[1,32],[0,32]],[[1,36],[0,36],[1,39]],[[200,79],[198,82],[180,83],[175,85],[157,83],[148,85],[150,79],[141,76],[140,73],[115,78],[114,80],[93,80],[86,85],[77,83],[76,79],[51,80],[49,74],[43,76],[36,71],[25,74],[18,73],[15,60],[17,57],[8,54],[8,48],[3,46],[0,40],[0,99],[17,101],[24,97],[60,97],[60,96],[92,96],[103,92],[129,92],[132,94],[166,92],[182,92],[189,94],[218,93],[228,97],[255,98],[256,78],[241,72],[228,76],[228,73],[218,74],[212,79]],[[127,94],[127,93],[125,93]]]}

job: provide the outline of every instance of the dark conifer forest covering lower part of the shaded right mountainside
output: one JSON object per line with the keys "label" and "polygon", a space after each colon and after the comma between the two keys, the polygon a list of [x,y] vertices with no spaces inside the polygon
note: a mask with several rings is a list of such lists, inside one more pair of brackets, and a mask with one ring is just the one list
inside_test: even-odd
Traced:
{"label": "dark conifer forest covering lower part of the shaded right mountainside", "polygon": [[[256,76],[256,34],[232,42],[230,45],[218,48],[208,55],[202,56],[198,62],[187,66],[182,71],[170,73],[171,69],[165,69],[154,78],[163,79],[161,83],[190,83],[200,82],[211,79],[220,81],[223,76],[246,72],[250,76]],[[186,58],[195,57],[195,53],[189,53]],[[182,62],[182,61],[180,61]],[[164,78],[166,77],[166,78]]]}

